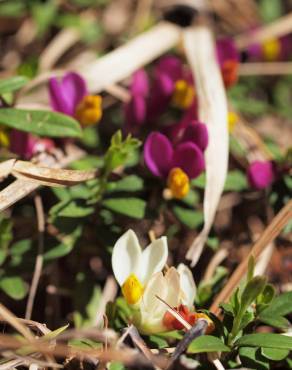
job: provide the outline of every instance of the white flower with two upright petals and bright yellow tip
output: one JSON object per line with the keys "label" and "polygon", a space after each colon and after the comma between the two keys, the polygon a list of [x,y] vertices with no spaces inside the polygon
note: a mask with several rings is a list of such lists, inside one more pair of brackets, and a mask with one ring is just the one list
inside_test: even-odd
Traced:
{"label": "white flower with two upright petals and bright yellow tip", "polygon": [[167,256],[166,237],[155,240],[144,251],[133,230],[118,239],[113,249],[112,267],[128,303],[140,301],[145,285],[153,274],[163,269]]}

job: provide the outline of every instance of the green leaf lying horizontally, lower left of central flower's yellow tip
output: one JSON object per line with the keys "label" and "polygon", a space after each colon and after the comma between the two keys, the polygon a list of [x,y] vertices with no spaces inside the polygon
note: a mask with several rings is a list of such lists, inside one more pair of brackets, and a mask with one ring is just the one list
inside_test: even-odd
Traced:
{"label": "green leaf lying horizontally, lower left of central flower's yellow tip", "polygon": [[146,202],[139,198],[104,199],[102,205],[128,217],[141,219],[145,215]]}

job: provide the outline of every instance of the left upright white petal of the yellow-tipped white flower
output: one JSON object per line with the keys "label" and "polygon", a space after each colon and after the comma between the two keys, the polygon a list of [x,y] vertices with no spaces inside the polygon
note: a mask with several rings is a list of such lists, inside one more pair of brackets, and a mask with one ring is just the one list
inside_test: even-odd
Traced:
{"label": "left upright white petal of the yellow-tipped white flower", "polygon": [[128,230],[117,240],[112,254],[113,272],[120,285],[139,269],[141,256],[138,238],[133,230]]}

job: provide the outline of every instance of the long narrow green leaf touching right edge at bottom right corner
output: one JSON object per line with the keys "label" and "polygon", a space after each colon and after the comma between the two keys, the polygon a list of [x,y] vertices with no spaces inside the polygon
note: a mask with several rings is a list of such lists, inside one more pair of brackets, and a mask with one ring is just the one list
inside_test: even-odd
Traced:
{"label": "long narrow green leaf touching right edge at bottom right corner", "polygon": [[239,347],[262,347],[264,344],[266,348],[282,348],[291,350],[292,338],[281,334],[257,333],[244,335],[239,338],[235,344]]}

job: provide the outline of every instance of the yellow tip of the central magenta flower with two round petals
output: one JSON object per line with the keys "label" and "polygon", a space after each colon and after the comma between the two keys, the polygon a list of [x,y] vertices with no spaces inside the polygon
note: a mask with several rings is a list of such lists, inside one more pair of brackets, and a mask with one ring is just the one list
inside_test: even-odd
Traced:
{"label": "yellow tip of the central magenta flower with two round petals", "polygon": [[190,179],[182,169],[175,167],[168,174],[167,186],[174,198],[181,199],[190,190]]}

